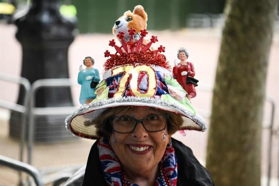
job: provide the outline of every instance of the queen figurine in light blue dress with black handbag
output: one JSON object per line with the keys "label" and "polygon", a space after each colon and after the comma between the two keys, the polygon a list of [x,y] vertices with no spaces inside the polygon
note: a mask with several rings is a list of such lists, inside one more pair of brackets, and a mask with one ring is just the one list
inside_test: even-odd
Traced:
{"label": "queen figurine in light blue dress with black handbag", "polygon": [[79,102],[81,104],[89,104],[93,99],[96,98],[96,94],[94,94],[94,92],[96,84],[100,81],[100,75],[99,70],[93,68],[94,59],[92,57],[85,57],[83,64],[86,66],[86,68],[83,69],[81,65],[79,67],[78,73],[78,84],[81,85]]}

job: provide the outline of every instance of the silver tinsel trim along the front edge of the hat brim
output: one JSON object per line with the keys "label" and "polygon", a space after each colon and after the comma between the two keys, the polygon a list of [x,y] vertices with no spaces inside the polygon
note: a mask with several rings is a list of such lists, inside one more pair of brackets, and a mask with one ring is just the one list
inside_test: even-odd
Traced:
{"label": "silver tinsel trim along the front edge of the hat brim", "polygon": [[[175,109],[180,110],[185,116],[187,116],[189,119],[192,119],[194,122],[196,122],[196,124],[198,124],[202,128],[201,131],[204,132],[207,129],[207,126],[205,124],[203,117],[201,117],[200,115],[193,115],[191,112],[189,112],[188,110],[185,110],[184,108],[182,108],[181,106],[179,106],[175,103],[171,103],[171,102],[161,100],[161,99],[147,98],[147,97],[141,98],[141,97],[134,97],[134,96],[122,97],[119,99],[109,98],[107,100],[92,101],[88,105],[82,105],[80,108],[78,108],[78,110],[74,111],[70,116],[68,116],[65,119],[66,128],[68,131],[71,132],[71,130],[69,129],[69,122],[79,114],[84,114],[84,113],[92,111],[92,110],[101,109],[101,108],[99,108],[100,106],[106,106],[106,107],[102,107],[102,109],[109,108],[110,104],[112,104],[112,103],[130,103],[130,102],[153,103],[153,104],[157,104],[157,105],[173,107]],[[121,106],[121,105],[117,105],[117,106]],[[88,113],[88,114],[90,114],[90,113]],[[95,118],[92,118],[92,119],[95,119]]]}

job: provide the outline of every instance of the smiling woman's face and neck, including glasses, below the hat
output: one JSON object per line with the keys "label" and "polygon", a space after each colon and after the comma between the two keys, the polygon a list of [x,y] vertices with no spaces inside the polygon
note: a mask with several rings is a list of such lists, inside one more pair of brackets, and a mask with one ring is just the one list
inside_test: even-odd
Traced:
{"label": "smiling woman's face and neck, including glasses, below the hat", "polygon": [[[112,121],[99,126],[105,126],[113,131],[109,135],[109,141],[121,164],[122,174],[137,185],[154,183],[159,175],[159,162],[167,144],[171,142],[171,133],[168,133],[166,126],[169,115],[160,115],[167,112],[154,108],[129,106],[112,108],[104,115],[109,116],[115,111]],[[137,120],[139,122],[136,122]]]}

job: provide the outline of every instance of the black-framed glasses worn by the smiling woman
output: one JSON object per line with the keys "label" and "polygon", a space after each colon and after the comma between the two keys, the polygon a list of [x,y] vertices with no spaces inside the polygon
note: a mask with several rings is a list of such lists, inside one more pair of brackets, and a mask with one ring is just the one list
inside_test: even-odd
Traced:
{"label": "black-framed glasses worn by the smiling woman", "polygon": [[143,119],[135,119],[126,115],[109,117],[112,128],[117,133],[131,133],[138,123],[141,123],[148,132],[158,132],[166,128],[168,119],[168,114],[153,114]]}

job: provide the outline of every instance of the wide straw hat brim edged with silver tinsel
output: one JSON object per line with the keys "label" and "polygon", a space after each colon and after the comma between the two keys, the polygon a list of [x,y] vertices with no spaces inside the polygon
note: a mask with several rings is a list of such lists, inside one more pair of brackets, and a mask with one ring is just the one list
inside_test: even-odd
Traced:
{"label": "wide straw hat brim edged with silver tinsel", "polygon": [[174,112],[185,116],[183,125],[179,130],[205,131],[207,129],[203,117],[189,112],[176,103],[161,99],[134,96],[119,99],[109,98],[107,100],[92,101],[88,105],[82,105],[65,119],[66,128],[76,136],[96,139],[98,137],[97,128],[95,125],[90,125],[90,122],[99,117],[106,109],[118,106],[145,106]]}

